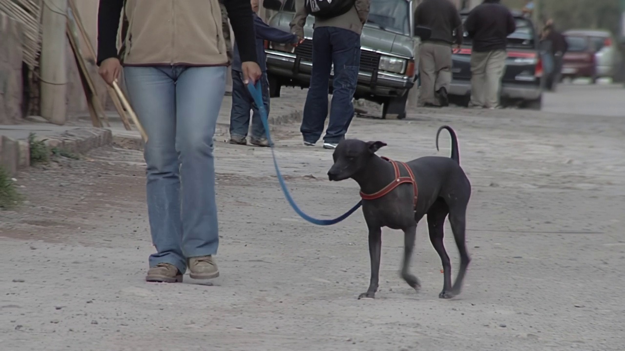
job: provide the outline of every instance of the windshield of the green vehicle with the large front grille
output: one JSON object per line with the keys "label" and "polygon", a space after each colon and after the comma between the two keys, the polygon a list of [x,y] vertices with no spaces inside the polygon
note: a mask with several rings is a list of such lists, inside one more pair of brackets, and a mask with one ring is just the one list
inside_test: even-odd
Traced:
{"label": "windshield of the green vehicle with the large front grille", "polygon": [[406,0],[372,0],[369,7],[369,26],[410,35],[410,2]]}

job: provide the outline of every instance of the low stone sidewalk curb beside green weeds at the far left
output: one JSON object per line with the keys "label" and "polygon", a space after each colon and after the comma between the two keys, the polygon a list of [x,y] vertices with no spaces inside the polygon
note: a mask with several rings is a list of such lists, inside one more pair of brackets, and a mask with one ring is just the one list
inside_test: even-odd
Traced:
{"label": "low stone sidewalk curb beside green weeds at the far left", "polygon": [[[64,149],[74,154],[84,154],[113,142],[113,133],[108,129],[79,127],[63,132],[58,136],[37,136],[53,149]],[[0,166],[11,176],[31,166],[30,146],[27,140],[0,136]]]}

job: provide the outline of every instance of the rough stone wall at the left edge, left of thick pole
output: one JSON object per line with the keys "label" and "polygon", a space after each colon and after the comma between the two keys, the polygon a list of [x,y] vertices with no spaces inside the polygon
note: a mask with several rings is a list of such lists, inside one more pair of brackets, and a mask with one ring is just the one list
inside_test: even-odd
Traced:
{"label": "rough stone wall at the left edge, left of thick pole", "polygon": [[22,27],[0,12],[0,125],[22,119]]}

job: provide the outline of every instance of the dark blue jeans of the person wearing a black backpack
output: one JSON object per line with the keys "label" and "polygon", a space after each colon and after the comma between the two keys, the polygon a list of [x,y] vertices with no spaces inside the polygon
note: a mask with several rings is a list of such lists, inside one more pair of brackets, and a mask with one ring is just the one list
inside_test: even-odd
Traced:
{"label": "dark blue jeans of the person wearing a black backpack", "polygon": [[327,94],[330,70],[334,64],[330,122],[324,142],[345,139],[354,117],[352,98],[356,92],[360,67],[360,36],[337,27],[316,27],[312,34],[311,86],[304,104],[300,131],[306,142],[317,142],[327,116]]}

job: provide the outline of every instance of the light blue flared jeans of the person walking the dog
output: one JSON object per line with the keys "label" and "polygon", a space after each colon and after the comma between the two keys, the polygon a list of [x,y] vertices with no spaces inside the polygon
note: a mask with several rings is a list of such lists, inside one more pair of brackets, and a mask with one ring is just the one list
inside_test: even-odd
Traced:
{"label": "light blue flared jeans of the person walking the dog", "polygon": [[[124,67],[128,96],[148,134],[150,267],[214,255],[219,245],[212,137],[226,67]],[[182,180],[182,182],[181,182]]]}

